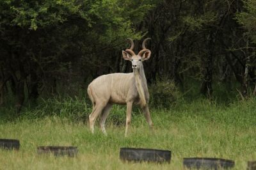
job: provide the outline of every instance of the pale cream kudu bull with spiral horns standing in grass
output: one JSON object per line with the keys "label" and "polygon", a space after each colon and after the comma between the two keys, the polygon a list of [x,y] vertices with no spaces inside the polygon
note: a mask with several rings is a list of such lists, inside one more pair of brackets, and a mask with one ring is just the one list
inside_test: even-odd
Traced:
{"label": "pale cream kudu bull with spiral horns standing in grass", "polygon": [[140,104],[150,128],[153,127],[148,109],[148,87],[142,62],[150,58],[151,51],[145,47],[147,38],[142,43],[142,50],[136,55],[133,51],[134,42],[129,38],[131,47],[122,51],[123,58],[132,62],[132,73],[111,73],[101,75],[88,86],[88,95],[92,100],[93,109],[89,116],[90,129],[94,133],[94,123],[102,114],[100,128],[107,135],[105,121],[113,104],[126,104],[125,137],[131,123],[132,104]]}

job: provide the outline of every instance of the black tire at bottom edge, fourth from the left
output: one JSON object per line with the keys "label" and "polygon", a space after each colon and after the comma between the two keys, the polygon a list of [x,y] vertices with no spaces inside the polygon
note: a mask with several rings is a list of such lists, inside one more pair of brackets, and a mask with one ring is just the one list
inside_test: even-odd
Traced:
{"label": "black tire at bottom edge, fourth from the left", "polygon": [[183,166],[189,169],[230,169],[235,162],[223,158],[183,158]]}

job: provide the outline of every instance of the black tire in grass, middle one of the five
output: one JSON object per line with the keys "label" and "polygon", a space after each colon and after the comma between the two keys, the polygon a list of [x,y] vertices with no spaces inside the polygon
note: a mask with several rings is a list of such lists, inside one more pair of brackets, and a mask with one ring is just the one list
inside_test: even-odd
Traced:
{"label": "black tire in grass, middle one of the five", "polygon": [[157,162],[170,163],[172,152],[168,150],[154,150],[154,149],[143,149],[143,148],[121,148],[120,159],[123,161],[132,162]]}

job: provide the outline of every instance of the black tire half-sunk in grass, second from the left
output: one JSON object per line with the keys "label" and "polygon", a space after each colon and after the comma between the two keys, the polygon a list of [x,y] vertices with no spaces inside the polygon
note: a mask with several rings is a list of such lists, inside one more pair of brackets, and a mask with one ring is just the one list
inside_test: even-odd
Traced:
{"label": "black tire half-sunk in grass, second from the left", "polygon": [[52,153],[54,156],[74,157],[77,154],[77,147],[74,146],[38,146],[38,154]]}

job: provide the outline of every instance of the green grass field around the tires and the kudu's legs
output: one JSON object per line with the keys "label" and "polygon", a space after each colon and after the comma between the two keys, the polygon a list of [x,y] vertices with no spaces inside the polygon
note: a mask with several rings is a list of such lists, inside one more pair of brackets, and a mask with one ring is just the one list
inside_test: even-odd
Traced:
{"label": "green grass field around the tires and the kudu's legs", "polygon": [[[61,111],[68,115],[67,108]],[[90,107],[81,104],[81,110],[89,112]],[[151,109],[152,133],[139,109],[134,109],[127,138],[125,107],[113,108],[107,119],[107,137],[100,132],[99,123],[93,135],[88,123],[62,114],[28,118],[36,111],[24,111],[24,116],[6,120],[5,110],[0,138],[19,139],[20,150],[0,150],[0,169],[183,169],[184,157],[228,158],[236,161],[234,169],[246,169],[248,160],[256,160],[255,110],[255,99],[228,105],[198,99],[171,109]],[[76,112],[81,114],[72,114]],[[36,153],[37,146],[49,145],[77,146],[79,152],[74,158]],[[127,164],[119,160],[121,147],[171,150],[172,160],[170,164]]]}

